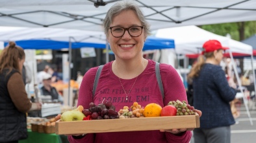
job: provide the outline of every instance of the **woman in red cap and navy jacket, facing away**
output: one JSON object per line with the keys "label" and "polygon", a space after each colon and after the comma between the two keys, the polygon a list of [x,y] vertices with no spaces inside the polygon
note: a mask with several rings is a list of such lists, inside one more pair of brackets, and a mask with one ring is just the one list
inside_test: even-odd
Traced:
{"label": "woman in red cap and navy jacket, facing away", "polygon": [[193,132],[196,143],[230,142],[230,126],[235,120],[229,102],[235,98],[236,91],[229,87],[220,67],[225,49],[217,40],[206,41],[203,55],[188,74],[188,78],[193,78],[194,107],[203,112],[200,128]]}

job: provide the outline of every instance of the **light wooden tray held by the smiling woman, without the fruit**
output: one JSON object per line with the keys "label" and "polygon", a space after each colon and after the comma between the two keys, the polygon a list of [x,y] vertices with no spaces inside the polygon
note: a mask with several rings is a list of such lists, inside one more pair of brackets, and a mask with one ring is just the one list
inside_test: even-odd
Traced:
{"label": "light wooden tray held by the smiling woman, without the fruit", "polygon": [[105,133],[119,131],[149,131],[159,129],[198,128],[199,115],[117,118],[55,123],[57,135]]}

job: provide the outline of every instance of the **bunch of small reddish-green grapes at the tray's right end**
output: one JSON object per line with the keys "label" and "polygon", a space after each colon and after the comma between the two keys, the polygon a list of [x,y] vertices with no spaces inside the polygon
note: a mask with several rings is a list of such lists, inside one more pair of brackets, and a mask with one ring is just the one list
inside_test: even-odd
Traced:
{"label": "bunch of small reddish-green grapes at the tray's right end", "polygon": [[182,115],[196,115],[196,109],[193,106],[186,103],[186,101],[170,101],[168,105],[173,105],[177,109],[177,116]]}

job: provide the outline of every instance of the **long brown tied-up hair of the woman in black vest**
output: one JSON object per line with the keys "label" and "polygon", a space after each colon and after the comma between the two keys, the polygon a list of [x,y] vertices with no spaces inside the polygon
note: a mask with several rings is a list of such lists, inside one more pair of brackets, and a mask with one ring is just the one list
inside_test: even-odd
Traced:
{"label": "long brown tied-up hair of the woman in black vest", "polygon": [[8,73],[13,69],[19,71],[19,60],[24,58],[24,50],[16,46],[14,41],[10,41],[0,54],[0,73],[3,72],[3,69],[9,69]]}

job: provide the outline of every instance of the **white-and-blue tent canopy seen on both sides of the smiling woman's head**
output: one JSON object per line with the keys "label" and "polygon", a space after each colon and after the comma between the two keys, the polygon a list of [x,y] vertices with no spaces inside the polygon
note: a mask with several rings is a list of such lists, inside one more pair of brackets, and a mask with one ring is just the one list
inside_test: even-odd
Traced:
{"label": "white-and-blue tent canopy seen on both sides of the smiling woman's head", "polygon": [[[64,49],[94,47],[105,49],[107,39],[103,32],[64,28],[0,27],[0,41],[16,41],[23,49]],[[174,40],[147,37],[143,50],[173,49]]]}

